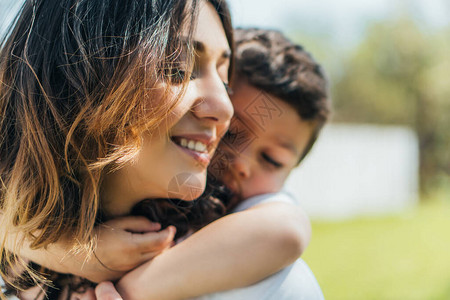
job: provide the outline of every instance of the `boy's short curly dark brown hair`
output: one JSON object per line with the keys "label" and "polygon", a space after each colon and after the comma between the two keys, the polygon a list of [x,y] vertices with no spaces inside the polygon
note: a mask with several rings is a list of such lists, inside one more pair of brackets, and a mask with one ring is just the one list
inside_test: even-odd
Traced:
{"label": "boy's short curly dark brown hair", "polygon": [[315,130],[303,159],[330,115],[325,72],[301,45],[279,31],[249,28],[234,33],[236,79],[278,97],[303,120],[314,122]]}

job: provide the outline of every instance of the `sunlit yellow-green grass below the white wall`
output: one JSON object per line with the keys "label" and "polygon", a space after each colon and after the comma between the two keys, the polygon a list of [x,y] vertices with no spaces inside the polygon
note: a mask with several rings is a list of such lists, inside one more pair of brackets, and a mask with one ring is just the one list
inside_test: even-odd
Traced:
{"label": "sunlit yellow-green grass below the white wall", "polygon": [[450,299],[450,204],[389,217],[313,222],[303,259],[327,300]]}

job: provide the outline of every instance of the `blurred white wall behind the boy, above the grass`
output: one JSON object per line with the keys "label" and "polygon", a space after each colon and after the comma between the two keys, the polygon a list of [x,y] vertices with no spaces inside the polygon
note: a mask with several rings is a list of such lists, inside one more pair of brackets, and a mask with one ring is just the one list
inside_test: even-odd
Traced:
{"label": "blurred white wall behind the boy, above the grass", "polygon": [[285,188],[312,218],[400,211],[418,201],[418,142],[405,127],[328,125]]}

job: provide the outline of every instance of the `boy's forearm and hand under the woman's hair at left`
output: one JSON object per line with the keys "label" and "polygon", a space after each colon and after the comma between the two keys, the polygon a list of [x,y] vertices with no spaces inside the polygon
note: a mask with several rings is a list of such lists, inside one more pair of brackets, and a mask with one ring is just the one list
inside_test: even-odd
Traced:
{"label": "boy's forearm and hand under the woman's hair at left", "polygon": [[90,256],[85,251],[75,253],[70,240],[61,239],[46,248],[31,249],[31,242],[24,240],[21,233],[6,233],[0,228],[0,234],[6,237],[6,248],[22,258],[59,273],[101,282],[119,279],[168,248],[175,228],[158,231],[160,227],[144,217],[123,217],[98,225],[97,247]]}

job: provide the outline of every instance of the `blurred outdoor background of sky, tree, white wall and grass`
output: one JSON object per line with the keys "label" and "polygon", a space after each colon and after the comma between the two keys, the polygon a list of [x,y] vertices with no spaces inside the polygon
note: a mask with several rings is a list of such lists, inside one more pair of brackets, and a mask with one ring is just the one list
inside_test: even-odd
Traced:
{"label": "blurred outdoor background of sky, tree, white wall and grass", "polygon": [[[21,1],[0,0],[4,31]],[[450,1],[229,0],[330,78],[334,115],[286,189],[326,299],[450,299]]]}

